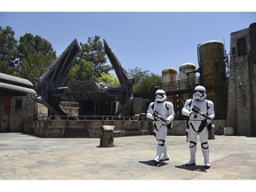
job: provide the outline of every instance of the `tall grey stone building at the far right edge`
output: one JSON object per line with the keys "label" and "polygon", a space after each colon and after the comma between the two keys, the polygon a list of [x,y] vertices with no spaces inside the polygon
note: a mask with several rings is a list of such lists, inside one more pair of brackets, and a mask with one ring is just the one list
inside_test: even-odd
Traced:
{"label": "tall grey stone building at the far right edge", "polygon": [[230,36],[227,126],[256,135],[256,22]]}

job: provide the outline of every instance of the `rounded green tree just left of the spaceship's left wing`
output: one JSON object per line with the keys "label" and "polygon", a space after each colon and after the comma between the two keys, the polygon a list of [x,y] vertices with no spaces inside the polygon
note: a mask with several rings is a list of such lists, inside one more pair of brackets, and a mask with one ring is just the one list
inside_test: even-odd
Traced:
{"label": "rounded green tree just left of the spaceship's left wing", "polygon": [[25,34],[20,36],[18,45],[19,61],[18,76],[34,80],[41,76],[45,69],[56,60],[56,52],[52,44],[41,36]]}

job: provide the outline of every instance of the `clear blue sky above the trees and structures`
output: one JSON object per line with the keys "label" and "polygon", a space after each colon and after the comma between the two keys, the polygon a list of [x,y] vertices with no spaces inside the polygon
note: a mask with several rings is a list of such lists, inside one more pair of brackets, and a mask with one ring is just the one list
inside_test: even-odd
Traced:
{"label": "clear blue sky above the trees and structures", "polygon": [[26,33],[41,36],[57,56],[74,38],[105,38],[128,70],[142,68],[161,75],[164,68],[185,62],[197,65],[197,44],[218,40],[229,52],[230,33],[248,28],[256,12],[22,12],[0,10],[0,26],[11,26],[17,39]]}

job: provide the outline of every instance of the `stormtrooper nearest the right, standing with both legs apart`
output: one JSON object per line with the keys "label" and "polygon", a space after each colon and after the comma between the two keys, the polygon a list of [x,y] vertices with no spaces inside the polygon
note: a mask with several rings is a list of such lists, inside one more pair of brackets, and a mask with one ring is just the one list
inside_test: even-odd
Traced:
{"label": "stormtrooper nearest the right, standing with both legs apart", "polygon": [[206,90],[204,86],[196,86],[193,99],[186,100],[181,113],[184,116],[189,116],[189,128],[186,131],[188,132],[190,160],[186,165],[196,165],[196,140],[197,135],[199,135],[204,156],[204,167],[210,168],[207,125],[211,124],[215,113],[213,102],[205,99]]}

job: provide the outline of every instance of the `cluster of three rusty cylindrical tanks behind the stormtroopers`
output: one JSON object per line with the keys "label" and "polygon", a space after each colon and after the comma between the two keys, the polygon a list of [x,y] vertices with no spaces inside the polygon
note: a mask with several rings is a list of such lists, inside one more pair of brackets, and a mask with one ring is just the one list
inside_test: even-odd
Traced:
{"label": "cluster of three rusty cylindrical tanks behind the stormtroopers", "polygon": [[[224,44],[212,40],[197,45],[199,68],[194,63],[180,65],[180,74],[175,68],[162,71],[162,89],[168,100],[174,105],[176,119],[184,119],[181,108],[191,98],[196,85],[201,84],[207,90],[207,98],[212,100],[215,119],[226,119],[228,106],[228,60]],[[199,73],[199,76],[196,76]]]}

